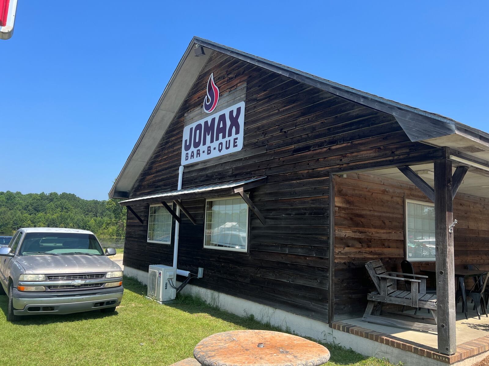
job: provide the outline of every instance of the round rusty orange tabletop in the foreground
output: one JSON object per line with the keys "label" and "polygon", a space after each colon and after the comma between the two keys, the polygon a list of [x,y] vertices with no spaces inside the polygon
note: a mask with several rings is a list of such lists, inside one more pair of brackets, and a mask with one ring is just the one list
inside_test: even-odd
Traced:
{"label": "round rusty orange tabletop in the foreground", "polygon": [[319,366],[330,351],[307,339],[268,330],[233,330],[201,340],[194,357],[204,366]]}

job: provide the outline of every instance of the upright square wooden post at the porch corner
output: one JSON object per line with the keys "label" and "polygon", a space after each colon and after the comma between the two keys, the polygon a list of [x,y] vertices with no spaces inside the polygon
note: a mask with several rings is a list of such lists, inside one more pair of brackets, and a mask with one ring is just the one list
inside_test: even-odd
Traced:
{"label": "upright square wooden post at the porch corner", "polygon": [[438,350],[452,355],[455,335],[455,268],[453,255],[452,163],[435,161],[435,240]]}

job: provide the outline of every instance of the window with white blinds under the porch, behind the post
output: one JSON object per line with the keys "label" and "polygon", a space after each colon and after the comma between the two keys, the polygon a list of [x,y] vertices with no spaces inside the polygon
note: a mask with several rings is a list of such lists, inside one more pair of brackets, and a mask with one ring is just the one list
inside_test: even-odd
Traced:
{"label": "window with white blinds under the porch, behind the post", "polygon": [[406,200],[408,261],[435,260],[435,205]]}

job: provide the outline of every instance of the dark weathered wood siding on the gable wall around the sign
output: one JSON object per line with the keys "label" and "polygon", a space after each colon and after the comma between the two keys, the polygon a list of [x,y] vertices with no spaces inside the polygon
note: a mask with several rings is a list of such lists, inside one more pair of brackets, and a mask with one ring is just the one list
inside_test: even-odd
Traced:
{"label": "dark weathered wood siding on the gable wall around the sign", "polygon": [[[328,319],[329,172],[430,160],[440,151],[410,142],[392,116],[258,66],[214,53],[130,192],[176,189],[185,114],[200,108],[210,72],[221,95],[246,82],[243,150],[185,166],[183,188],[267,176],[250,198],[249,253],[203,248],[204,200],[183,204],[197,219],[180,226],[178,267],[212,288],[314,319]],[[147,205],[133,207],[146,219]],[[172,263],[173,245],[146,243],[128,213],[124,264]]]}

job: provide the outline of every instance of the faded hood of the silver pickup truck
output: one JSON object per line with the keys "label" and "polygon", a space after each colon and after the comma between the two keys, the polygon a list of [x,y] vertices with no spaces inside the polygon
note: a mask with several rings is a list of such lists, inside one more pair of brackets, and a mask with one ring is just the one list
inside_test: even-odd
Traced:
{"label": "faded hood of the silver pickup truck", "polygon": [[120,271],[107,256],[28,255],[17,258],[27,274],[87,273]]}

